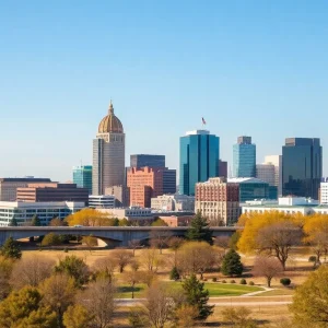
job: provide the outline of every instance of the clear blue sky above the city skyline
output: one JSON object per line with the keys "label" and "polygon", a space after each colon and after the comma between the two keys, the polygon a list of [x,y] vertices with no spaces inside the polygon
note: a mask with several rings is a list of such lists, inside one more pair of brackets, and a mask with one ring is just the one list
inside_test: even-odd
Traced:
{"label": "clear blue sky above the city skyline", "polygon": [[328,174],[327,1],[0,0],[0,176],[71,179],[110,97],[131,153],[166,155],[207,128],[232,162],[318,137]]}

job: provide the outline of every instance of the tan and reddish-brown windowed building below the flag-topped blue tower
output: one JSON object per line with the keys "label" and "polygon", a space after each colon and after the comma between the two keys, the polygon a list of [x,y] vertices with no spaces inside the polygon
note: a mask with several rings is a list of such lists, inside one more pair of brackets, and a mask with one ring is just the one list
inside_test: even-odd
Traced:
{"label": "tan and reddish-brown windowed building below the flag-topped blue tower", "polygon": [[210,225],[233,225],[239,216],[239,186],[224,177],[210,178],[196,185],[195,211],[200,211]]}

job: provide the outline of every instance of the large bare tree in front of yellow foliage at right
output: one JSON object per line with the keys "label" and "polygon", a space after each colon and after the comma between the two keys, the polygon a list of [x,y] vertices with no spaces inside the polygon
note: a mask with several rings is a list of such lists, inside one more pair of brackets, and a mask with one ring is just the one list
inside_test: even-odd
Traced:
{"label": "large bare tree in front of yellow foliage at right", "polygon": [[257,244],[260,251],[273,254],[285,270],[285,263],[293,246],[300,245],[302,230],[293,222],[279,222],[259,230]]}

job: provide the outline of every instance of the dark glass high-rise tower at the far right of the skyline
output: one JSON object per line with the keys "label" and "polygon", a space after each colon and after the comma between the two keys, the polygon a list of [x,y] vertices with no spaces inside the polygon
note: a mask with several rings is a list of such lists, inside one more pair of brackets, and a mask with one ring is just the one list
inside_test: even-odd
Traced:
{"label": "dark glass high-rise tower at the far right of the skyline", "polygon": [[282,195],[318,199],[323,148],[318,138],[286,138],[282,147]]}

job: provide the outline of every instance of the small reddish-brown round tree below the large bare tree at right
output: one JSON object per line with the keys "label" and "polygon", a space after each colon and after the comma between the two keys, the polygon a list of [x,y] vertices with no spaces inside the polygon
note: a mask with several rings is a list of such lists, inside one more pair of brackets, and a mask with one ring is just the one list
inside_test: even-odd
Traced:
{"label": "small reddish-brown round tree below the large bare tree at right", "polygon": [[254,262],[254,274],[265,277],[268,288],[271,286],[271,280],[282,273],[281,262],[274,257],[258,256]]}

